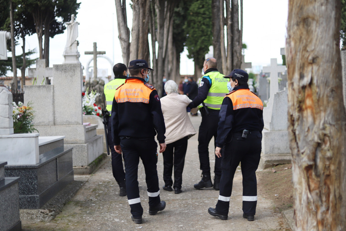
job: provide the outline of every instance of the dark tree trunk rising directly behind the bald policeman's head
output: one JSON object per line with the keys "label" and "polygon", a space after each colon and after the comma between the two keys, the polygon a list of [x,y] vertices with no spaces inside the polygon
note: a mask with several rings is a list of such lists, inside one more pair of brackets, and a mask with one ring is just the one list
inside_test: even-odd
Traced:
{"label": "dark tree trunk rising directly behind the bald policeman's head", "polygon": [[[220,34],[222,36],[224,28],[221,24],[225,25],[224,22],[221,21],[221,17],[224,18],[224,14],[221,14],[220,11],[221,6],[222,8],[224,6],[225,0],[212,0],[211,1],[211,25],[213,30],[213,49],[214,49],[214,58],[218,62],[218,70],[222,73],[223,70],[223,62],[222,62],[222,38],[220,37]],[[224,42],[225,47],[225,42]]]}

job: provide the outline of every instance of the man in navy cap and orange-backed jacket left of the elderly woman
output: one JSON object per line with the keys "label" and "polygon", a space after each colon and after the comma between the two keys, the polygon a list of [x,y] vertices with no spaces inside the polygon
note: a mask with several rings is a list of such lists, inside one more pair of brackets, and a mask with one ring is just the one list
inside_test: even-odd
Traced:
{"label": "man in navy cap and orange-backed jacket left of the elderly woman", "polygon": [[130,77],[115,92],[112,104],[112,135],[115,150],[125,161],[127,199],[132,220],[142,223],[143,208],[138,189],[138,163],[142,159],[149,197],[149,215],[164,210],[156,170],[157,140],[160,153],[166,149],[165,122],[156,89],[147,83],[149,68],[145,60],[133,60],[128,67]]}

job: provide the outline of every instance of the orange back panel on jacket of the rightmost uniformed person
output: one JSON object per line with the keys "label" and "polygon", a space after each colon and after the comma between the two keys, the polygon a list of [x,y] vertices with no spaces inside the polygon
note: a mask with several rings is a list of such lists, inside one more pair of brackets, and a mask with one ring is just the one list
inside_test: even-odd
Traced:
{"label": "orange back panel on jacket of the rightmost uniformed person", "polygon": [[249,89],[231,91],[225,97],[229,97],[232,100],[233,110],[249,107],[263,110],[262,100]]}

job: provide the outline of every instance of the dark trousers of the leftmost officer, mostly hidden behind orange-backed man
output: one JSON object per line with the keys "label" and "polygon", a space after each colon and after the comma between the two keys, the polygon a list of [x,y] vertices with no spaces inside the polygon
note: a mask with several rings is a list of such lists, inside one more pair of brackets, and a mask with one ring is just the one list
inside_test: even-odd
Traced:
{"label": "dark trousers of the leftmost officer, mostly hidden behind orange-backed man", "polygon": [[122,156],[117,153],[114,149],[114,143],[112,139],[112,124],[111,124],[111,119],[109,116],[108,119],[108,124],[107,124],[107,141],[108,141],[108,146],[112,155],[112,172],[113,172],[113,177],[118,183],[121,183],[125,181],[125,172],[124,172],[124,166],[122,165]]}

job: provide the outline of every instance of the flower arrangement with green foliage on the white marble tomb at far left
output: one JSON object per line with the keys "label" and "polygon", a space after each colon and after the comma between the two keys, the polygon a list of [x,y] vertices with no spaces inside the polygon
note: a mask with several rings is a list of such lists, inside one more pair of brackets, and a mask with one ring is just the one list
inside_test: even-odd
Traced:
{"label": "flower arrangement with green foliage on the white marble tomb at far left", "polygon": [[[28,106],[23,106],[22,102],[12,103],[13,105],[13,132],[17,133],[32,133],[37,131],[33,126],[33,120],[35,118],[33,107],[30,107],[31,102]],[[37,131],[38,132],[38,131]]]}

